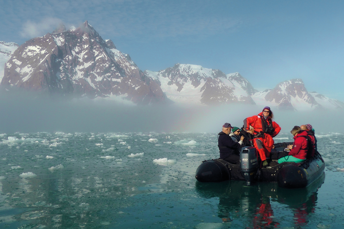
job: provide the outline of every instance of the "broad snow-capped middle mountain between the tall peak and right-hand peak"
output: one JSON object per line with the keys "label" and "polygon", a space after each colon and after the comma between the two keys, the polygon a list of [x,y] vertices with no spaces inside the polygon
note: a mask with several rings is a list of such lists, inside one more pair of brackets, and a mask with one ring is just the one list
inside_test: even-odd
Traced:
{"label": "broad snow-capped middle mountain between the tall peak and right-hand peak", "polygon": [[174,102],[254,104],[250,96],[254,89],[238,72],[225,75],[217,69],[176,64],[158,72],[146,70],[144,75],[157,82],[167,98]]}

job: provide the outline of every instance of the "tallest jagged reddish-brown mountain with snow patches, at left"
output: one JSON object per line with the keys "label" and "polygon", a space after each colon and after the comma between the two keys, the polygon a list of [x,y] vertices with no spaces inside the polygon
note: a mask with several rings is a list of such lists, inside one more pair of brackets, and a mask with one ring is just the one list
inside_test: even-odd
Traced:
{"label": "tallest jagged reddish-brown mountain with snow patches, at left", "polygon": [[54,33],[21,45],[6,63],[1,86],[77,97],[120,97],[137,104],[165,100],[159,85],[87,21],[68,31],[61,25]]}

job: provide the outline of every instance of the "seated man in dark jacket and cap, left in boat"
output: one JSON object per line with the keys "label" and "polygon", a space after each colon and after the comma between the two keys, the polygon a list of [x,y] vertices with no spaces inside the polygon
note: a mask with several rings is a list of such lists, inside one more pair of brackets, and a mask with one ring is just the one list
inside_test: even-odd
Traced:
{"label": "seated man in dark jacket and cap, left in boat", "polygon": [[[230,130],[233,127],[229,123],[222,126],[222,131],[218,133],[218,148],[220,150],[220,159],[229,161],[232,164],[240,164],[240,156],[235,154],[235,149],[240,148],[238,142],[233,141],[229,136]],[[244,140],[241,136],[240,140]]]}

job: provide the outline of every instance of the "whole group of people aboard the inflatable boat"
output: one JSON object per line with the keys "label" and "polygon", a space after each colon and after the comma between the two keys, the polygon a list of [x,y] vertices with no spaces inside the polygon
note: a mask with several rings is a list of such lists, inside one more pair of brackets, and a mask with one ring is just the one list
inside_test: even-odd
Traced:
{"label": "whole group of people aboard the inflatable boat", "polygon": [[[271,152],[274,148],[273,137],[281,131],[281,127],[272,121],[272,118],[273,113],[270,107],[266,106],[258,115],[245,118],[241,130],[225,123],[222,131],[218,133],[220,159],[232,164],[240,164],[241,147],[247,146],[249,141],[257,150],[261,167],[267,167],[271,162]],[[294,143],[286,147],[285,152],[288,152],[288,155],[278,158],[278,163],[286,161],[300,163],[313,157],[317,147],[312,125],[294,126],[290,133],[294,136]]]}

